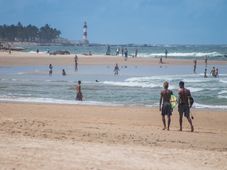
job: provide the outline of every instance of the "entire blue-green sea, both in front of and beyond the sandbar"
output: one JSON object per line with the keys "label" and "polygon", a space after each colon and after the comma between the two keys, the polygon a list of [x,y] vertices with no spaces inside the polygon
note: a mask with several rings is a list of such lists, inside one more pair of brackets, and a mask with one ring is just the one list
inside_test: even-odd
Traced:
{"label": "entire blue-green sea, both in front of and beyond the sandbar", "polygon": [[[112,54],[119,46],[111,46]],[[37,47],[27,48],[35,52]],[[38,47],[40,52],[48,50],[69,50],[71,53],[105,54],[106,46]],[[79,65],[75,71],[72,65],[64,66],[67,75],[62,76],[63,66],[54,66],[49,76],[48,66],[12,66],[0,67],[1,102],[35,102],[57,104],[85,104],[107,106],[145,106],[156,107],[159,104],[160,91],[164,81],[169,81],[170,89],[177,96],[178,83],[183,80],[186,88],[194,97],[195,108],[227,109],[227,66],[219,68],[219,77],[210,76],[213,65],[209,60],[226,60],[227,46],[127,46],[129,55],[138,49],[138,57],[164,56],[168,58],[204,59],[208,56],[208,78],[204,78],[204,65],[198,65],[193,73],[193,65],[157,65],[132,66],[120,65],[118,76],[113,74],[113,65]],[[107,56],[108,57],[108,56]],[[84,101],[75,100],[75,85],[82,81]]]}

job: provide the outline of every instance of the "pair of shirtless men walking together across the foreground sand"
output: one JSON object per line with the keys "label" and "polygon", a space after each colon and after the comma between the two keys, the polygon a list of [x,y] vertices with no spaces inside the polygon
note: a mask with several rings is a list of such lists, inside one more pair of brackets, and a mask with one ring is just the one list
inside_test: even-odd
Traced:
{"label": "pair of shirtless men walking together across the foreground sand", "polygon": [[[163,122],[163,130],[170,129],[171,123],[171,115],[173,109],[171,107],[171,95],[173,92],[168,89],[169,83],[165,81],[163,83],[164,90],[160,93],[160,102],[159,102],[159,110],[161,111],[162,115],[162,122]],[[179,112],[179,124],[180,124],[180,131],[182,131],[182,120],[183,116],[185,116],[191,126],[191,132],[194,131],[194,126],[192,124],[193,117],[190,116],[190,108],[192,107],[192,102],[190,99],[192,98],[191,92],[189,89],[184,87],[184,82],[179,82],[179,91],[178,91],[178,112]],[[165,116],[168,118],[168,124],[166,126]]]}

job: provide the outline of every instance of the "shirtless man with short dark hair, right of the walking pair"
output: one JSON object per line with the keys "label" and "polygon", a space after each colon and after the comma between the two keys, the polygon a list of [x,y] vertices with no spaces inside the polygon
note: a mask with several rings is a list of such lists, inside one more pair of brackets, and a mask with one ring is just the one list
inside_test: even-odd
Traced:
{"label": "shirtless man with short dark hair, right of the walking pair", "polygon": [[180,131],[182,131],[182,119],[183,115],[187,118],[190,126],[191,126],[191,132],[194,131],[194,127],[192,125],[192,120],[190,118],[190,108],[192,107],[190,105],[189,98],[191,97],[190,90],[186,89],[184,87],[184,82],[179,82],[179,92],[178,92],[178,112],[179,112],[179,123],[180,123]]}

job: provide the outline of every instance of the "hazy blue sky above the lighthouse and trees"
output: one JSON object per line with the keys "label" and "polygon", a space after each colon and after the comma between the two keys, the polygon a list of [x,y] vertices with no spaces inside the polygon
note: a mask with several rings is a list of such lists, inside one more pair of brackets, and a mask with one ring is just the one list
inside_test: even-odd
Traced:
{"label": "hazy blue sky above the lighthouse and trees", "polygon": [[227,0],[0,0],[0,25],[49,24],[104,44],[227,44]]}

